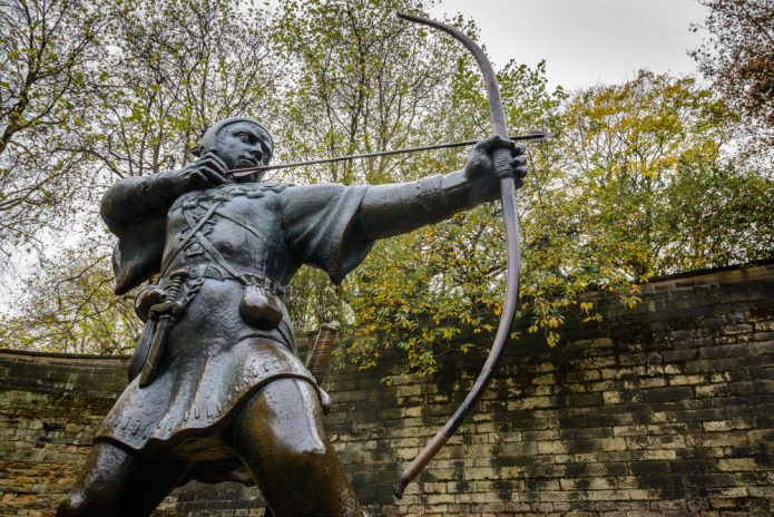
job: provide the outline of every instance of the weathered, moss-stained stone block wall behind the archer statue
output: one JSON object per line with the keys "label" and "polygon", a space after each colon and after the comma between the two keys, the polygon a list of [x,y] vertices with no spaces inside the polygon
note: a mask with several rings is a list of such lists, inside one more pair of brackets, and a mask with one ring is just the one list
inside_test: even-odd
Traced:
{"label": "weathered, moss-stained stone block wall behind the archer statue", "polygon": [[[510,345],[478,411],[395,501],[403,465],[482,357],[432,381],[339,371],[327,428],[375,516],[774,515],[774,264],[663,279],[633,311]],[[51,515],[125,359],[0,352],[1,515]],[[188,485],[157,515],[258,516],[254,489]],[[249,509],[254,508],[254,509]]]}

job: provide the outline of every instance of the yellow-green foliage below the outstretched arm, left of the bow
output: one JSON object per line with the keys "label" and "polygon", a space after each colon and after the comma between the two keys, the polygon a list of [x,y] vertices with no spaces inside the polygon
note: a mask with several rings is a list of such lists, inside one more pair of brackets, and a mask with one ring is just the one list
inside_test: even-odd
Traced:
{"label": "yellow-green foliage below the outstretched arm, left of the bow", "polygon": [[428,375],[444,353],[490,339],[504,289],[497,222],[487,205],[379,243],[345,284],[354,313],[346,359],[366,369],[401,354]]}

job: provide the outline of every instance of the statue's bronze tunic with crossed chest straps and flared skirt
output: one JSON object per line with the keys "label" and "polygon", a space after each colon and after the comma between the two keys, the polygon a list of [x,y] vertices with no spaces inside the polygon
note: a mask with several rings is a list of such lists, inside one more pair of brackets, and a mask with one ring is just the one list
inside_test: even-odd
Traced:
{"label": "statue's bronze tunic with crossed chest straps and flared skirt", "polygon": [[226,270],[251,284],[265,285],[265,277],[284,286],[312,264],[340,283],[373,244],[357,218],[366,189],[227,184],[177,198],[166,217],[159,285],[174,271],[188,272],[178,297],[187,301],[185,313],[167,331],[158,377],[144,388],[137,378],[129,383],[95,441],[136,451],[161,447],[199,462],[189,478],[246,481],[218,431],[272,380],[316,383],[298,359],[284,305],[275,329],[245,323],[244,284]]}

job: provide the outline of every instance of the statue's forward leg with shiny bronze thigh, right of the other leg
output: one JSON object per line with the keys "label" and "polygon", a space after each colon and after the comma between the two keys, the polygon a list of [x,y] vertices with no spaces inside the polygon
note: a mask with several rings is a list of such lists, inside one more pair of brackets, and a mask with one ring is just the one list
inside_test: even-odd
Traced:
{"label": "statue's forward leg with shiny bronze thigh, right of the other leg", "polygon": [[275,517],[363,515],[308,382],[267,384],[236,418],[231,438]]}

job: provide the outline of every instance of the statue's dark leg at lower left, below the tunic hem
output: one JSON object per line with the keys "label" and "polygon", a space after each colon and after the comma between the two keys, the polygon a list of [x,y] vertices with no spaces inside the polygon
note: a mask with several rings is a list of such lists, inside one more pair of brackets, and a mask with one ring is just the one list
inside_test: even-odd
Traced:
{"label": "statue's dark leg at lower left, below the tunic hem", "polygon": [[186,464],[138,457],[111,443],[96,443],[76,487],[57,517],[143,517],[177,486]]}

